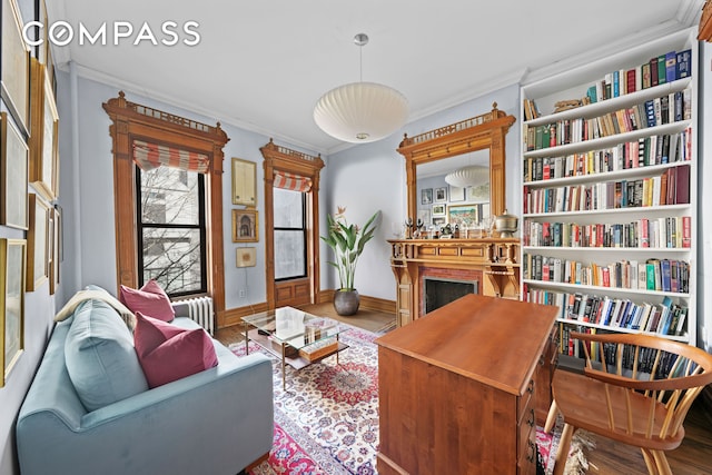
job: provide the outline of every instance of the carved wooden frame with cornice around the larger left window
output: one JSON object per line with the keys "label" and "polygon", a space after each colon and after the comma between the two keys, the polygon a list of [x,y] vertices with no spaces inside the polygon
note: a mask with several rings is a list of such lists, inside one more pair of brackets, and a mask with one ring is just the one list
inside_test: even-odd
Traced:
{"label": "carved wooden frame with cornice around the larger left window", "polygon": [[229,141],[217,126],[175,116],[126,100],[123,91],[103,105],[113,122],[113,202],[116,212],[117,293],[121,285],[138,285],[138,245],[136,237],[136,190],[132,142],[149,139],[210,157],[208,188],[208,289],[212,295],[217,320],[225,311],[225,259],[222,246],[222,147]]}

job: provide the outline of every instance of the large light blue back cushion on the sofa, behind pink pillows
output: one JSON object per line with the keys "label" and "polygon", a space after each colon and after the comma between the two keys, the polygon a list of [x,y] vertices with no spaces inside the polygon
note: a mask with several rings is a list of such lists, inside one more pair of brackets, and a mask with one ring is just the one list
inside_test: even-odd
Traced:
{"label": "large light blue back cushion on the sofa, behind pink pillows", "polygon": [[89,412],[148,389],[131,331],[103,301],[91,299],[77,307],[65,340],[65,359]]}

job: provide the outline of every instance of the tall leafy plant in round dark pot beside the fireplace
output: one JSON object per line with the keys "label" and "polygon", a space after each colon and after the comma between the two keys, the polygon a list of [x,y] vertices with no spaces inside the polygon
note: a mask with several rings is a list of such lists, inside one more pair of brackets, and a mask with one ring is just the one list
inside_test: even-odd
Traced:
{"label": "tall leafy plant in round dark pot beside the fireplace", "polygon": [[338,315],[354,315],[358,311],[360,301],[358,291],[354,288],[354,274],[356,273],[356,264],[358,257],[364,251],[366,243],[374,237],[374,231],[378,226],[376,218],[380,211],[376,211],[366,221],[363,228],[346,221],[346,208],[340,206],[337,212],[332,216],[327,215],[328,234],[322,236],[335,255],[335,260],[328,261],[329,265],[338,270],[338,279],[340,287],[334,294],[334,308]]}

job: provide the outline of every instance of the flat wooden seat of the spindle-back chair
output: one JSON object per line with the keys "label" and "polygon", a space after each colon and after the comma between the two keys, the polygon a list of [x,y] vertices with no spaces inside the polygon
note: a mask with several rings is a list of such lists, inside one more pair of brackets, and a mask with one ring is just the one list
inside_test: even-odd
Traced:
{"label": "flat wooden seat of the spindle-back chair", "polygon": [[[552,392],[564,422],[585,431],[601,434],[607,438],[637,447],[654,451],[670,451],[676,448],[684,438],[682,425],[674,436],[661,438],[661,427],[665,422],[668,410],[660,402],[630,389],[609,385],[614,428],[609,425],[606,384],[584,375],[556,370],[552,382]],[[626,397],[627,394],[627,397]],[[631,410],[627,408],[630,399]],[[646,437],[651,404],[654,404],[654,422],[650,437]],[[645,417],[633,418],[633,433],[626,432],[627,415],[643,414]]]}

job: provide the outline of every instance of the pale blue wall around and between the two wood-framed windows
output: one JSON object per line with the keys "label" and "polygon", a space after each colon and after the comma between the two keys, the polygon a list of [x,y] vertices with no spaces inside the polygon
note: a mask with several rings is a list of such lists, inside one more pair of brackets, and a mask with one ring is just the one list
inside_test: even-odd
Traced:
{"label": "pale blue wall around and between the two wood-framed windows", "polygon": [[[67,264],[65,271],[68,275],[67,293],[82,288],[88,284],[96,284],[115,293],[117,286],[116,276],[116,237],[115,237],[115,204],[113,204],[113,159],[111,156],[111,137],[109,116],[101,105],[118,96],[116,88],[78,77],[78,97],[71,97],[72,75],[60,72],[60,116],[62,121],[77,125],[78,130],[78,162],[62,160],[61,179],[67,189],[72,194],[60,198],[62,205],[67,235]],[[194,112],[178,109],[166,103],[157,102],[150,98],[141,97],[126,91],[127,99],[132,102],[156,107],[157,109],[188,117],[205,123],[215,125],[215,118],[206,118]],[[73,106],[73,107],[72,107]],[[219,120],[219,119],[218,119]],[[257,209],[260,220],[264,219],[264,192],[263,192],[263,156],[259,148],[269,141],[269,137],[246,131],[227,123],[221,123],[230,141],[225,146],[225,161],[222,176],[222,227],[225,246],[225,285],[226,308],[244,307],[250,304],[265,301],[265,228],[259,226],[259,241],[249,245],[257,248],[257,266],[247,268],[235,267],[235,254],[237,244],[230,236],[231,210],[241,207],[234,206],[230,200],[230,164],[233,157],[239,157],[257,164]],[[62,157],[71,157],[72,129],[62,128]],[[289,144],[280,144],[291,147]],[[296,149],[296,147],[293,147]],[[300,150],[314,154],[310,150]],[[263,220],[264,222],[264,220]],[[119,244],[120,245],[120,244]],[[245,290],[246,297],[239,298],[239,290]]]}

